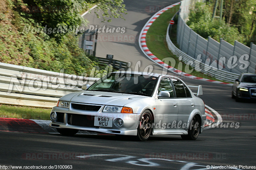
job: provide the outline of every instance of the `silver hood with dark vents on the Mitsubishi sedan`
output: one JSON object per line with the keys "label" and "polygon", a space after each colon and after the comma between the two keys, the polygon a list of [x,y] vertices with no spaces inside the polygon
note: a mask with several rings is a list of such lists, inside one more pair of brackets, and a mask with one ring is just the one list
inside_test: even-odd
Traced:
{"label": "silver hood with dark vents on the Mitsubishi sedan", "polygon": [[99,105],[124,106],[127,103],[143,98],[149,97],[125,93],[84,91],[67,94],[61,97],[60,100]]}

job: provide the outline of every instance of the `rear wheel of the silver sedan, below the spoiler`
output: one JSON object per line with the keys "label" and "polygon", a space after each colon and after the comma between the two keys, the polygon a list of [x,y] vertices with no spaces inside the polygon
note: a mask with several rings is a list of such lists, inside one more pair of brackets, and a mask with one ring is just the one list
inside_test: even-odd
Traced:
{"label": "rear wheel of the silver sedan, below the spoiler", "polygon": [[[195,115],[191,121],[192,126],[189,126],[188,135],[181,135],[183,140],[196,140],[199,136],[199,132],[201,130],[201,121],[198,115]],[[197,127],[194,127],[195,124],[198,123]],[[191,128],[190,128],[191,127]]]}

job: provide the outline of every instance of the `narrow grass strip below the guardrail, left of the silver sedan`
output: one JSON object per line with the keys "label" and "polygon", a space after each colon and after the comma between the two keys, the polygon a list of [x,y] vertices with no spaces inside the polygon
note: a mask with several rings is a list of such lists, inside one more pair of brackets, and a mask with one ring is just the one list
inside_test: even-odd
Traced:
{"label": "narrow grass strip below the guardrail, left of the silver sedan", "polygon": [[0,117],[50,120],[51,109],[0,104]]}

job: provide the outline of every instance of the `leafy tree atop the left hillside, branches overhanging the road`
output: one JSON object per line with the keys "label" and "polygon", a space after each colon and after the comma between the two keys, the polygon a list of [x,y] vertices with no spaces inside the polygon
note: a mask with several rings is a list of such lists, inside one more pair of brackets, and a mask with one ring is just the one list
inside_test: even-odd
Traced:
{"label": "leafy tree atop the left hillside, branches overhanging the road", "polygon": [[[9,0],[10,1],[10,0]],[[123,0],[24,0],[25,4],[16,2],[15,8],[27,19],[33,19],[41,28],[46,27],[45,32],[59,28],[59,32],[48,34],[50,38],[59,41],[68,30],[86,24],[86,20],[81,17],[81,11],[88,10],[91,4],[98,4],[95,13],[102,13],[105,21],[109,18],[123,18],[125,13]],[[108,19],[111,21],[111,19]],[[66,30],[66,31],[65,31]]]}

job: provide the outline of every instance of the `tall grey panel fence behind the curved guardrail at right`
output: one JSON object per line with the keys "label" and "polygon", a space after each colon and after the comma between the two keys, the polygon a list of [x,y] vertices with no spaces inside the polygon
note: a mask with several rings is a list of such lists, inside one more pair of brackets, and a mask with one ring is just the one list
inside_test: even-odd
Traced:
{"label": "tall grey panel fence behind the curved guardrail at right", "polygon": [[224,39],[220,42],[208,37],[205,40],[186,24],[188,19],[188,6],[195,0],[183,0],[180,4],[179,19],[177,25],[177,43],[180,50],[193,58],[201,54],[203,63],[212,65],[219,70],[232,73],[256,73],[256,45],[251,47],[235,41],[234,45]]}

